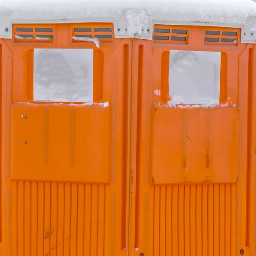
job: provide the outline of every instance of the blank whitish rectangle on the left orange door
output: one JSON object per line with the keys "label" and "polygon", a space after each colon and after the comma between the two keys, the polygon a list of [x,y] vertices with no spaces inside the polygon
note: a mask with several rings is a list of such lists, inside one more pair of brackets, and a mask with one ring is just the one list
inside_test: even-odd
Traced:
{"label": "blank whitish rectangle on the left orange door", "polygon": [[34,101],[93,102],[93,49],[34,49]]}

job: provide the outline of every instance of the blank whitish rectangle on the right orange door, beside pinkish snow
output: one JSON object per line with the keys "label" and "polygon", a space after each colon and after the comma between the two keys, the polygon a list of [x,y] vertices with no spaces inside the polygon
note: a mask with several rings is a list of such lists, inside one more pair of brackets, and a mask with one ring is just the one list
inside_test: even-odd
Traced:
{"label": "blank whitish rectangle on the right orange door, beside pinkish snow", "polygon": [[172,103],[219,104],[221,52],[170,51]]}

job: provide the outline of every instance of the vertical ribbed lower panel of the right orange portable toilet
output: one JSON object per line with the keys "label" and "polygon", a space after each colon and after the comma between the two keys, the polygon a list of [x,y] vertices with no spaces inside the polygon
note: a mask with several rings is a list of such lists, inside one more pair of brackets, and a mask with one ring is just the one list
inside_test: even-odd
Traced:
{"label": "vertical ribbed lower panel of the right orange portable toilet", "polygon": [[152,189],[154,256],[235,255],[236,184]]}

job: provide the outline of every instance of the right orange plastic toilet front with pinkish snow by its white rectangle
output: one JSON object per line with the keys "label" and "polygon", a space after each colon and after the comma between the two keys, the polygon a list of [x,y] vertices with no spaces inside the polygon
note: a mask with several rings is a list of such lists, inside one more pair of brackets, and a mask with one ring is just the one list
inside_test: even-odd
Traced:
{"label": "right orange plastic toilet front with pinkish snow by its white rectangle", "polygon": [[[134,40],[133,49],[132,255],[253,256],[255,48],[240,44],[239,29],[156,28],[169,38]],[[186,40],[171,40],[173,30]],[[205,41],[206,31],[218,40]],[[166,104],[170,50],[221,52],[219,106]]]}

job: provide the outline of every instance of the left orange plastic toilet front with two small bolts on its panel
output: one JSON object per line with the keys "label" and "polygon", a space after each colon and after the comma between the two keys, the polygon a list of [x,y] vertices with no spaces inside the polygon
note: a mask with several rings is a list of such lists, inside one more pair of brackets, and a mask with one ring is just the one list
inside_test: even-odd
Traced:
{"label": "left orange plastic toilet front with two small bolts on its panel", "polygon": [[[40,28],[53,38],[0,42],[1,255],[126,253],[131,40],[99,38],[98,49],[73,40],[84,26],[113,34],[112,23],[18,24],[14,35]],[[93,49],[94,104],[33,102],[34,48]]]}

